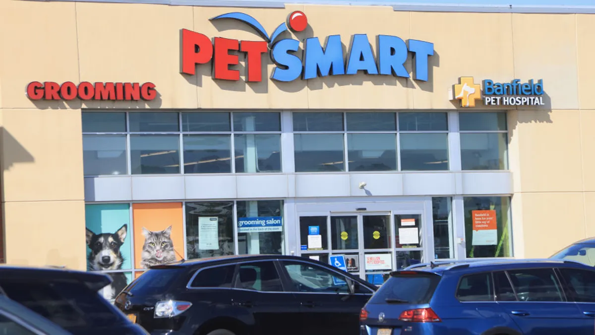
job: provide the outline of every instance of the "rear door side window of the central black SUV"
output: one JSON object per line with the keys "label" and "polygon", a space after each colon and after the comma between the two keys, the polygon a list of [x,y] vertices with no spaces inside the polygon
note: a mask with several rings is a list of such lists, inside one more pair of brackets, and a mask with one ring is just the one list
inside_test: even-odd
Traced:
{"label": "rear door side window of the central black SUV", "polygon": [[236,287],[238,289],[262,292],[281,292],[281,278],[275,268],[275,263],[266,262],[242,263],[237,272]]}

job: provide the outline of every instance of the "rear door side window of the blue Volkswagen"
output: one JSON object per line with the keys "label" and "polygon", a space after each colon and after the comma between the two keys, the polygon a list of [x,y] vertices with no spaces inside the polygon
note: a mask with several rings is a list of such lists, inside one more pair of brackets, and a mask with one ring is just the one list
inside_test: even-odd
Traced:
{"label": "rear door side window of the blue Volkswagen", "polygon": [[563,301],[562,287],[553,269],[522,269],[508,274],[519,301]]}

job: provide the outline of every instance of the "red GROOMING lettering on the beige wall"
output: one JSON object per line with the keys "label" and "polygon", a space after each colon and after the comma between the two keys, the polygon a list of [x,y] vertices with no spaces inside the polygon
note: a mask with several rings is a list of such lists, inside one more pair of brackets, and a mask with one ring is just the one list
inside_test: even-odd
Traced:
{"label": "red GROOMING lettering on the beige wall", "polygon": [[154,100],[157,97],[155,84],[114,82],[31,82],[27,85],[27,97],[31,100],[102,100],[136,101]]}

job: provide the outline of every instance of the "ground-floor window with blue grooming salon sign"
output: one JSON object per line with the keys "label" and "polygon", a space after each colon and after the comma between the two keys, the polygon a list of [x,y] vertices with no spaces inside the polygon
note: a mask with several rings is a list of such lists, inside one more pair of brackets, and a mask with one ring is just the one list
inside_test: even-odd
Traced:
{"label": "ground-floor window with blue grooming salon sign", "polygon": [[240,255],[283,255],[283,229],[283,200],[237,201]]}

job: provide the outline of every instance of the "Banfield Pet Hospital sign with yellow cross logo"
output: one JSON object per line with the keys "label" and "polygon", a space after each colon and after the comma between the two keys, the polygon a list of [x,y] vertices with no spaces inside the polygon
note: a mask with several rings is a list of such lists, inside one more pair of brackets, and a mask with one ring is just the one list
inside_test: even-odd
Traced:
{"label": "Banfield Pet Hospital sign with yellow cross logo", "polygon": [[[481,92],[483,86],[483,98]],[[461,107],[475,107],[475,100],[483,100],[485,106],[543,106],[543,79],[521,82],[498,83],[485,79],[482,85],[473,77],[460,77],[453,86],[453,100],[461,100]]]}

